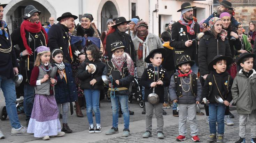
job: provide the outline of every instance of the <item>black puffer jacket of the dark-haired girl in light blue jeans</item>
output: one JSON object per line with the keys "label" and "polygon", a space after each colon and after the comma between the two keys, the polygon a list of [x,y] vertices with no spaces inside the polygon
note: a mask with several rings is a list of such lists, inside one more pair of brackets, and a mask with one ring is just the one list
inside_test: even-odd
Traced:
{"label": "black puffer jacket of the dark-haired girl in light blue jeans", "polygon": [[[95,64],[97,66],[96,72],[88,73],[88,70],[85,70],[86,63],[89,64]],[[103,89],[103,81],[101,79],[101,75],[103,73],[103,70],[105,68],[106,64],[101,62],[101,60],[95,60],[89,61],[88,59],[85,59],[85,61],[79,66],[78,71],[77,71],[77,78],[81,80],[81,89],[98,89],[102,90]],[[96,79],[96,83],[94,86],[90,84],[90,81],[92,79]]]}

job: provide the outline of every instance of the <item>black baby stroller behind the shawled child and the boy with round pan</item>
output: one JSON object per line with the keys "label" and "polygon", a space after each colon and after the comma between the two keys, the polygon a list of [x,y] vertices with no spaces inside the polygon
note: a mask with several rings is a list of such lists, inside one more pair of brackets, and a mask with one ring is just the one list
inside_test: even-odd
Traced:
{"label": "black baby stroller behind the shawled child and the boy with round pan", "polygon": [[130,95],[128,97],[128,102],[132,103],[133,96],[135,99],[139,102],[139,105],[141,108],[143,108],[145,101],[142,99],[142,92],[141,92],[141,86],[139,84],[139,80],[134,78],[134,80],[130,84]]}

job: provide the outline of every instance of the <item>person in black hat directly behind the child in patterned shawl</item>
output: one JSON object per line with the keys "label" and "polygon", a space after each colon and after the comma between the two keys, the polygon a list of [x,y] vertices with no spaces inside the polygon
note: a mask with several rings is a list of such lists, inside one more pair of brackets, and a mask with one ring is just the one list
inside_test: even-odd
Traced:
{"label": "person in black hat directly behind the child in patterned shawl", "polygon": [[[110,60],[112,57],[111,52],[111,43],[115,41],[122,41],[125,48],[124,52],[128,53],[133,62],[135,63],[135,51],[134,46],[132,43],[132,38],[126,32],[126,24],[130,23],[131,21],[126,21],[124,17],[118,17],[116,19],[116,24],[110,28],[109,32],[106,35],[106,51],[108,55],[108,59]],[[104,41],[103,41],[104,43]],[[106,52],[105,52],[106,53]]]}

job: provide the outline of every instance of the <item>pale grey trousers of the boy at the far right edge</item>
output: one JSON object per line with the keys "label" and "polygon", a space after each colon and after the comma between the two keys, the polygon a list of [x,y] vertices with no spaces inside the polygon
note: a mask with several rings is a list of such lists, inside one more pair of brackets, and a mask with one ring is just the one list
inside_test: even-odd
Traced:
{"label": "pale grey trousers of the boy at the far right edge", "polygon": [[[245,138],[248,114],[239,114],[239,136]],[[256,113],[249,114],[251,138],[256,138]],[[247,124],[248,125],[248,124]]]}

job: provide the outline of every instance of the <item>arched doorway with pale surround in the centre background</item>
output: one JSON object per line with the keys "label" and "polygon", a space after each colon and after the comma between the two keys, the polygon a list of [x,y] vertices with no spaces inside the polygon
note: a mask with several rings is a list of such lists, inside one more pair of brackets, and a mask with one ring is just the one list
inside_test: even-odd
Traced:
{"label": "arched doorway with pale surround in the centre background", "polygon": [[[103,3],[104,2],[104,3]],[[118,9],[118,5],[115,0],[102,0],[99,5],[99,10],[101,11],[100,15],[98,13],[98,25],[101,25],[101,32],[107,30],[107,20],[110,18],[118,17],[120,12]],[[99,18],[100,16],[100,18]]]}

